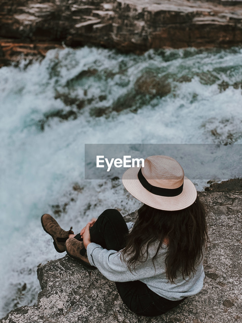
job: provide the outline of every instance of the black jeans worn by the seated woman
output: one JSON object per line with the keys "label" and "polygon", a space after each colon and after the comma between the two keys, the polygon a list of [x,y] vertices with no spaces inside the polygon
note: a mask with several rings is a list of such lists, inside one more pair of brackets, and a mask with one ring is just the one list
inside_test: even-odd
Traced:
{"label": "black jeans worn by the seated woman", "polygon": [[[91,241],[107,250],[119,251],[125,247],[128,228],[123,216],[115,209],[105,210],[90,227]],[[128,267],[127,267],[127,270]],[[185,298],[171,301],[159,296],[140,280],[115,282],[124,304],[141,316],[158,316],[180,304]]]}

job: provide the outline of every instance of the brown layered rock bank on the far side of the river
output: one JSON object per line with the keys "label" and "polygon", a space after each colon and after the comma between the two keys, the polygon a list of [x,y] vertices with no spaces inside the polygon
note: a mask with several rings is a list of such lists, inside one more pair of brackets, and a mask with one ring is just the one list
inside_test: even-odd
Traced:
{"label": "brown layered rock bank on the far side of the river", "polygon": [[62,46],[124,52],[242,43],[240,0],[2,0],[0,66]]}

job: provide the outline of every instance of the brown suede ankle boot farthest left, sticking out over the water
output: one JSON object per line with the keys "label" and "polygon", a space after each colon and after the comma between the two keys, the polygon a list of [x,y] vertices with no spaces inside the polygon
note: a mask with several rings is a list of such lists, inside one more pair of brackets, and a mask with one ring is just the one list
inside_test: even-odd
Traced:
{"label": "brown suede ankle boot farthest left, sticking out over the water", "polygon": [[74,234],[71,230],[72,227],[69,231],[63,230],[50,214],[43,214],[41,223],[45,232],[52,236],[55,250],[60,253],[66,251],[65,243],[68,239],[68,234]]}

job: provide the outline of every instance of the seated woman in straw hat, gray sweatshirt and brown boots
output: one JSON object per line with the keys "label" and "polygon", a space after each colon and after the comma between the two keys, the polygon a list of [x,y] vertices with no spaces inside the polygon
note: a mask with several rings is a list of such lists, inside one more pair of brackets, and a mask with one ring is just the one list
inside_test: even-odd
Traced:
{"label": "seated woman in straw hat, gray sweatshirt and brown boots", "polygon": [[129,168],[122,182],[144,203],[135,223],[126,224],[117,210],[108,209],[76,235],[72,228],[62,230],[49,214],[42,216],[42,225],[58,252],[114,281],[131,311],[158,316],[203,287],[206,211],[171,157],[147,157],[144,167]]}

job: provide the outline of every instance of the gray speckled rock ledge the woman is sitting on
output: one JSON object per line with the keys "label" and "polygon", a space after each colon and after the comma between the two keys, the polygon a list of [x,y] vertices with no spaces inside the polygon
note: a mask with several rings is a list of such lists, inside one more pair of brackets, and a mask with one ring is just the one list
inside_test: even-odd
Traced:
{"label": "gray speckled rock ledge the woman is sitting on", "polygon": [[[233,184],[232,184],[233,183]],[[215,191],[215,186],[217,191]],[[210,245],[202,291],[163,316],[138,317],[123,304],[115,283],[67,255],[37,270],[37,304],[11,311],[1,323],[233,323],[242,322],[242,180],[211,184],[200,199],[209,211]],[[133,221],[136,212],[125,217]]]}

